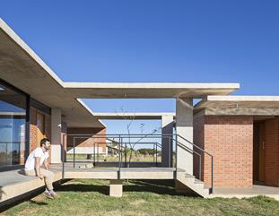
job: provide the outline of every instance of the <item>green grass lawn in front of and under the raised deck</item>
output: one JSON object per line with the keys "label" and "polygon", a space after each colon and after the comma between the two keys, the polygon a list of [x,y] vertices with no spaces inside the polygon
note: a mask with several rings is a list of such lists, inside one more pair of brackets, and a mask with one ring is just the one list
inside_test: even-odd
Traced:
{"label": "green grass lawn in front of and under the raised deck", "polygon": [[3,215],[279,215],[279,202],[249,199],[203,199],[176,194],[172,182],[130,181],[122,198],[109,197],[107,181],[72,180],[57,188],[59,197],[39,195]]}

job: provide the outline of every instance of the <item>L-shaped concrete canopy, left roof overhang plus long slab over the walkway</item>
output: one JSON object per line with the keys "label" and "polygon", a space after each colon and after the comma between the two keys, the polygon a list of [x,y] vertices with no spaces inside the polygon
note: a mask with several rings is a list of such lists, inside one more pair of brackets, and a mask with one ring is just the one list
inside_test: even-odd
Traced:
{"label": "L-shaped concrete canopy, left roof overhang plus long slab over the walkway", "polygon": [[240,88],[238,83],[63,82],[1,19],[0,78],[50,108],[61,108],[63,121],[76,127],[104,127],[81,98],[201,98],[228,95]]}

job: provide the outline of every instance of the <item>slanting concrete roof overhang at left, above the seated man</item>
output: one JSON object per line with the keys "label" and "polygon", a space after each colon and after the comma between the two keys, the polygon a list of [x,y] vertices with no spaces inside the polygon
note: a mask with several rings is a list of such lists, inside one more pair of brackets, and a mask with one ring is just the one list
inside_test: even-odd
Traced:
{"label": "slanting concrete roof overhang at left, above the seated man", "polygon": [[57,74],[0,19],[0,78],[50,108],[61,108],[68,126],[104,127],[64,89]]}

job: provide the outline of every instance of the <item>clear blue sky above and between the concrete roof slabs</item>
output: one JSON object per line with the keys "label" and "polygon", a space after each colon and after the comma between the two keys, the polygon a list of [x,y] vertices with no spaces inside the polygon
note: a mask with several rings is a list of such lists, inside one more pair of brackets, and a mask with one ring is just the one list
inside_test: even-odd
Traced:
{"label": "clear blue sky above and between the concrete roof slabs", "polygon": [[[278,12],[277,0],[3,0],[0,9],[64,81],[240,82],[236,93],[249,95],[279,94]],[[170,99],[144,101],[86,103],[174,110]]]}

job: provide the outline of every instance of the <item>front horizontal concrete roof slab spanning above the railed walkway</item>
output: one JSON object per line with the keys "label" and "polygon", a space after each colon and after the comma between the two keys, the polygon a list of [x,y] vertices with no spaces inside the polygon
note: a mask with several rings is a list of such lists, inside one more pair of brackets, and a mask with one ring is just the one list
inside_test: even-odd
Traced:
{"label": "front horizontal concrete roof slab spanning above the railed walkway", "polygon": [[239,83],[65,82],[65,89],[82,99],[167,99],[228,95]]}

